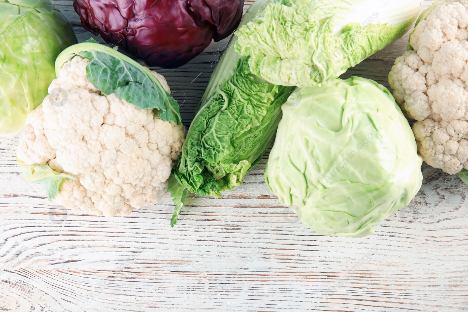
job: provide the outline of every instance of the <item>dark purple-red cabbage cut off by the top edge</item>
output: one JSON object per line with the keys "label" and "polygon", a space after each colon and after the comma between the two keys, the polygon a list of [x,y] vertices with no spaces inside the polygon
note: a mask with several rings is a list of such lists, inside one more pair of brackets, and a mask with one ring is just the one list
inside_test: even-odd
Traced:
{"label": "dark purple-red cabbage cut off by the top edge", "polygon": [[[244,0],[74,0],[81,25],[149,66],[179,67],[239,25]],[[122,51],[123,50],[123,51]]]}

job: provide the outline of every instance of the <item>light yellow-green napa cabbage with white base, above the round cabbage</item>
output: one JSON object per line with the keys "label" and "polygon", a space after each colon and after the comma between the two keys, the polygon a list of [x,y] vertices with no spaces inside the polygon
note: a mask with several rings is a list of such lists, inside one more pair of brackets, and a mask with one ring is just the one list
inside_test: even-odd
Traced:
{"label": "light yellow-green napa cabbage with white base, above the round cabbage", "polygon": [[[272,0],[236,31],[252,73],[277,85],[315,86],[408,31],[419,0]],[[376,11],[373,11],[373,10]],[[368,22],[372,21],[372,22]]]}

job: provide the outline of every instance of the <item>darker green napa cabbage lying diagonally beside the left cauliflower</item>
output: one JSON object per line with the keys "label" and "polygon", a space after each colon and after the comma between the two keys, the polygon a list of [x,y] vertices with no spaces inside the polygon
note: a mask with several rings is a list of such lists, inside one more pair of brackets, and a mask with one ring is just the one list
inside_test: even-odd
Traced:
{"label": "darker green napa cabbage lying diagonally beside the left cauliflower", "polygon": [[[255,2],[242,23],[264,2]],[[271,144],[281,105],[293,90],[252,74],[249,59],[234,50],[235,41],[234,36],[216,66],[174,166],[177,181],[202,196],[219,198],[243,183]]]}

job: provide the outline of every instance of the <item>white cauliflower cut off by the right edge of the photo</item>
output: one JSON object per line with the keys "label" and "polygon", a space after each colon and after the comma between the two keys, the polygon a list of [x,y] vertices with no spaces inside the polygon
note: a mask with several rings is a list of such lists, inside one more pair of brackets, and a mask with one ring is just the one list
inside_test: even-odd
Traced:
{"label": "white cauliflower cut off by the right edge of the photo", "polygon": [[448,174],[468,169],[468,0],[447,0],[419,22],[388,75],[418,151]]}

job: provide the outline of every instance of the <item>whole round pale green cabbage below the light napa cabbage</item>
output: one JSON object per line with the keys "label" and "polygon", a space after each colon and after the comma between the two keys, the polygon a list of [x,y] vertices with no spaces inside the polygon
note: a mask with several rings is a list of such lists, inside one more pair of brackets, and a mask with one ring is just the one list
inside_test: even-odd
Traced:
{"label": "whole round pale green cabbage below the light napa cabbage", "polygon": [[422,159],[387,88],[336,79],[296,89],[282,111],[265,180],[315,232],[372,234],[420,189]]}

